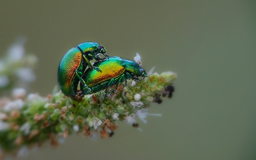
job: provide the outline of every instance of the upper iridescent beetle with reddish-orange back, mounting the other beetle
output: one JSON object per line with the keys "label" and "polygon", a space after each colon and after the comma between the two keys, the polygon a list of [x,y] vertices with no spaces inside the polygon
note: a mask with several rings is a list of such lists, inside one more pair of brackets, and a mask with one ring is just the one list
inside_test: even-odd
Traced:
{"label": "upper iridescent beetle with reddish-orange back, mounting the other beetle", "polygon": [[95,59],[100,61],[98,55],[106,55],[106,50],[96,42],[85,42],[78,45],[76,48],[70,49],[61,59],[58,68],[57,80],[61,91],[68,97],[79,101],[77,98],[77,87],[80,82],[84,90],[90,91],[86,83],[82,79],[82,75],[86,70],[87,65],[90,69],[101,72],[98,67],[94,67],[89,61]]}

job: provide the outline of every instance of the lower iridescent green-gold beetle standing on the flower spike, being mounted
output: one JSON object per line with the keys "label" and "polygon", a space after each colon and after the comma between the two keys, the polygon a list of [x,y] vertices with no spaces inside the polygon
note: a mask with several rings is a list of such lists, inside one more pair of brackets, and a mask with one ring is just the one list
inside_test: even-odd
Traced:
{"label": "lower iridescent green-gold beetle standing on the flower spike, being mounted", "polygon": [[[104,58],[105,59],[105,58]],[[97,72],[93,69],[86,69],[82,79],[90,88],[90,91],[80,84],[80,89],[83,95],[96,93],[105,89],[105,97],[108,97],[107,88],[116,85],[111,91],[115,93],[117,86],[127,79],[138,81],[138,77],[147,77],[146,71],[134,61],[123,59],[121,57],[108,57],[105,61],[96,61],[93,63],[102,72]],[[110,94],[111,94],[110,93]]]}

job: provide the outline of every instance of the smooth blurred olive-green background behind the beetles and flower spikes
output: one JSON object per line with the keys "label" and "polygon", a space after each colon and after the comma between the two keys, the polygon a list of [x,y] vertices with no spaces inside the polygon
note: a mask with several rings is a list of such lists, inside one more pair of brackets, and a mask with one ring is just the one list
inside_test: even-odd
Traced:
{"label": "smooth blurred olive-green background behind the beetles and flower spikes", "polygon": [[254,160],[255,1],[0,1],[1,56],[19,35],[39,58],[31,92],[57,85],[72,47],[95,41],[107,54],[141,55],[143,68],[176,72],[174,96],[152,104],[140,132],[119,122],[112,138],[72,135],[28,160]]}

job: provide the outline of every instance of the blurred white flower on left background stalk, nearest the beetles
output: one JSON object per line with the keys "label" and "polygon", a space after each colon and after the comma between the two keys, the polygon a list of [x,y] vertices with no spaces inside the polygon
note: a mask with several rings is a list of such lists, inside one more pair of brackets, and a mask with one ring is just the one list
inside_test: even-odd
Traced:
{"label": "blurred white flower on left background stalk, nearest the beetles", "polygon": [[35,74],[30,68],[20,68],[16,72],[20,81],[32,82],[35,81]]}

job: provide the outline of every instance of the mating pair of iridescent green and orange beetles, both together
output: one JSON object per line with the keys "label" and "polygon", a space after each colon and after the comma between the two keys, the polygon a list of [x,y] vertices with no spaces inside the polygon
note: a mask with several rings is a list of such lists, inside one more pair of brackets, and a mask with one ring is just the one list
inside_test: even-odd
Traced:
{"label": "mating pair of iridescent green and orange beetles, both together", "polygon": [[[106,58],[100,58],[104,55]],[[89,61],[95,59],[91,64]],[[87,65],[89,66],[86,69]],[[146,71],[137,63],[121,57],[109,57],[106,50],[95,42],[85,42],[70,49],[59,63],[58,83],[61,91],[76,101],[82,95],[96,93],[103,89],[107,97],[107,88],[119,85],[126,79],[139,80],[147,76]],[[80,82],[81,92],[78,92]],[[115,93],[117,86],[111,93]]]}

